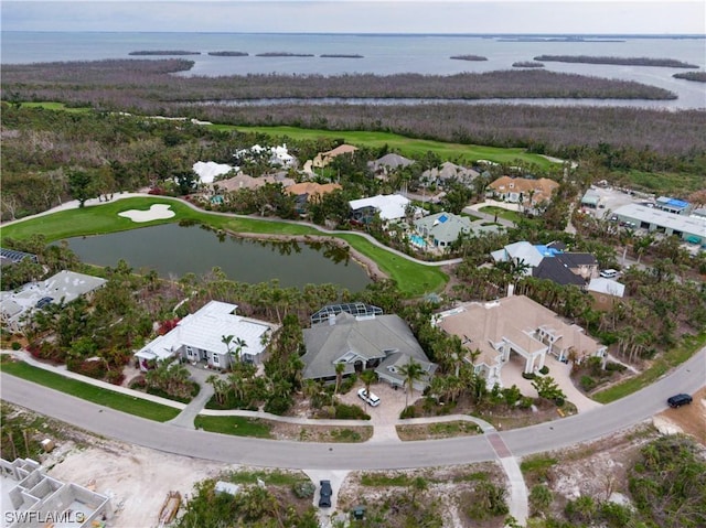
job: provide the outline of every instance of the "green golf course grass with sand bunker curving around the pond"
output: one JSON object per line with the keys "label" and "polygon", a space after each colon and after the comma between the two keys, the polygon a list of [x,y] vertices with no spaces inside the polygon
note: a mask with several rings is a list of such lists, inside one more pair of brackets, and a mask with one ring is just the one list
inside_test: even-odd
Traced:
{"label": "green golf course grass with sand bunker curving around the pond", "polygon": [[[149,209],[152,204],[170,204],[175,216],[168,219],[136,224],[129,218],[118,216],[128,209]],[[299,224],[269,222],[257,218],[233,218],[213,213],[194,211],[178,200],[154,197],[132,197],[92,205],[81,209],[67,209],[51,215],[19,222],[6,226],[0,235],[1,239],[29,238],[32,235],[44,235],[47,243],[76,236],[101,235],[107,233],[136,229],[139,227],[169,224],[182,219],[196,220],[208,224],[216,229],[233,233],[258,233],[271,235],[310,235],[321,236],[321,231]],[[351,246],[377,262],[383,272],[394,279],[405,297],[418,297],[431,291],[439,291],[446,284],[448,277],[438,268],[418,265],[392,251],[374,246],[365,238],[354,234],[336,235]]]}

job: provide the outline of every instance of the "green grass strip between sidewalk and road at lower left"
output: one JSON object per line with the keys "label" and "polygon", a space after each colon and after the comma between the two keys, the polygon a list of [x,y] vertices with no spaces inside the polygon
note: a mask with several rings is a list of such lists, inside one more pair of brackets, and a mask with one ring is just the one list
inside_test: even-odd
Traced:
{"label": "green grass strip between sidewalk and road at lower left", "polygon": [[75,396],[76,398],[93,401],[94,403],[109,407],[117,411],[147,418],[148,420],[165,422],[175,418],[180,412],[179,409],[95,387],[56,373],[33,367],[24,362],[6,360],[3,358],[2,371]]}

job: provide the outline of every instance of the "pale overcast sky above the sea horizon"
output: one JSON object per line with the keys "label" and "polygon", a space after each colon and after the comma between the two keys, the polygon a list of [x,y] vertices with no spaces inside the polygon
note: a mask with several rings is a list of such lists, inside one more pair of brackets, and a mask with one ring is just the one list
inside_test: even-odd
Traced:
{"label": "pale overcast sky above the sea horizon", "polygon": [[3,0],[0,15],[2,31],[706,34],[704,0]]}

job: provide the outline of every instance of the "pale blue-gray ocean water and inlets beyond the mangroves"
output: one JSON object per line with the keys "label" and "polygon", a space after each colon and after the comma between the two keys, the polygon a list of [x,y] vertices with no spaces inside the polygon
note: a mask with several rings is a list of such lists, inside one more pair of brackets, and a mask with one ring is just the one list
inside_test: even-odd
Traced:
{"label": "pale blue-gray ocean water and inlets beyond the mangroves", "polygon": [[[596,42],[527,42],[478,35],[399,34],[266,34],[266,33],[99,33],[99,32],[2,32],[1,64],[101,58],[146,58],[130,56],[143,50],[199,52],[184,58],[194,61],[183,75],[221,76],[246,74],[342,75],[373,73],[392,75],[418,73],[452,75],[462,72],[512,69],[518,61],[537,55],[591,55],[675,58],[706,68],[706,40],[683,37],[610,37]],[[621,42],[614,42],[620,40]],[[211,56],[208,52],[237,51],[248,56]],[[312,54],[307,57],[261,57],[260,53]],[[357,54],[362,58],[331,58],[321,54]],[[481,55],[483,62],[451,60],[452,55]],[[149,57],[156,58],[156,57]],[[706,86],[672,77],[694,69],[568,64],[546,62],[545,69],[597,77],[635,80],[677,94],[672,101],[644,106],[671,109],[706,108]],[[564,101],[561,104],[571,104]],[[616,105],[639,103],[614,101]]]}

